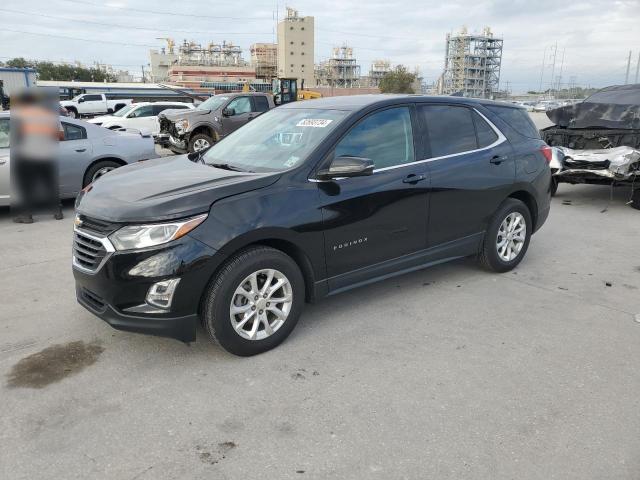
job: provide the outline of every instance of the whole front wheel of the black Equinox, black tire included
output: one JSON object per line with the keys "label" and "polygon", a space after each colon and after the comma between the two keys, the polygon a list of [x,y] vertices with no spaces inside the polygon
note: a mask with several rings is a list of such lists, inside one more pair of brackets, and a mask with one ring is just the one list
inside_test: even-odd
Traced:
{"label": "whole front wheel of the black Equinox, black tire included", "polygon": [[[273,287],[282,277],[288,280],[288,285],[284,284],[271,293],[278,299],[290,296],[289,304],[282,302],[267,306],[267,300],[273,296],[264,297],[260,293],[256,302],[256,296],[247,291],[247,287],[251,290],[255,288],[250,286],[248,278],[259,273],[256,285],[258,291],[263,292],[268,271],[274,272],[270,283]],[[241,289],[243,293],[238,294]],[[274,248],[251,247],[227,260],[211,280],[202,300],[201,321],[214,342],[228,352],[243,357],[256,355],[275,348],[289,336],[298,323],[304,296],[304,278],[291,257]],[[238,312],[232,316],[233,307]],[[274,313],[276,309],[286,313],[284,320],[281,320],[282,315]],[[261,317],[260,312],[263,312]],[[247,314],[249,318],[244,320]],[[241,325],[243,320],[246,323]],[[238,330],[234,328],[234,322]],[[272,333],[267,332],[267,323]],[[254,338],[248,338],[251,336]]]}

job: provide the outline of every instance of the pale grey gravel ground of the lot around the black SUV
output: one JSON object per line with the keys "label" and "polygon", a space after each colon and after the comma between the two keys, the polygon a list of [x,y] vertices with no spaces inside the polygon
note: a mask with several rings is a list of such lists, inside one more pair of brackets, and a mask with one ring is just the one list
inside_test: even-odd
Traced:
{"label": "pale grey gravel ground of the lot around the black SUV", "polygon": [[75,301],[71,206],[0,212],[0,478],[637,479],[627,199],[561,185],[515,271],[353,290],[252,358],[112,330]]}

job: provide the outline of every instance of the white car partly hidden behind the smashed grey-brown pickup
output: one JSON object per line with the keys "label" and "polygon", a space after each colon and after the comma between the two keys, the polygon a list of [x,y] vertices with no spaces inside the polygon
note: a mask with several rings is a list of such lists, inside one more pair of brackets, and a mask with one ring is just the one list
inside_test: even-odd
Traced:
{"label": "white car partly hidden behind the smashed grey-brown pickup", "polygon": [[102,115],[88,120],[110,130],[133,128],[143,135],[154,135],[160,131],[158,114],[165,110],[185,110],[195,108],[184,102],[140,102],[127,105],[112,115]]}

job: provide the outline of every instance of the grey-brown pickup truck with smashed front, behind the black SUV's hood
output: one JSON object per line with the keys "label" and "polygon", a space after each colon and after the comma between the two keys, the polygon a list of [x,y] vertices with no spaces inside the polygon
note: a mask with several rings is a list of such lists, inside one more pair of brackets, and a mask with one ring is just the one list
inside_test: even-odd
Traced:
{"label": "grey-brown pickup truck with smashed front, behind the black SUV's hood", "polygon": [[158,115],[156,143],[174,153],[204,150],[274,107],[273,97],[267,93],[214,95],[192,110],[169,110]]}

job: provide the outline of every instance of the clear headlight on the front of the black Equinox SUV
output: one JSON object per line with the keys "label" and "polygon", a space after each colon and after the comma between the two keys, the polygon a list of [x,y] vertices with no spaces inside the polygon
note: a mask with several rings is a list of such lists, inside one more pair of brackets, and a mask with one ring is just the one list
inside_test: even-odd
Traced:
{"label": "clear headlight on the front of the black Equinox SUV", "polygon": [[185,236],[204,222],[206,218],[207,214],[204,214],[175,222],[128,225],[112,233],[109,240],[116,250],[132,250],[162,245]]}

